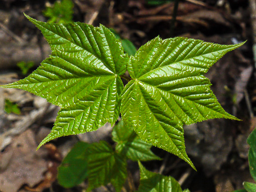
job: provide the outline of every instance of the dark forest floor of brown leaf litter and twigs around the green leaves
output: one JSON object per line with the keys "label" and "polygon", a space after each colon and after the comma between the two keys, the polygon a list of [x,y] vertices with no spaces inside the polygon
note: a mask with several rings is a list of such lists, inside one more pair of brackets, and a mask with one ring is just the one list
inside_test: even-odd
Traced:
{"label": "dark forest floor of brown leaf litter and twigs around the green leaves", "polygon": [[[175,25],[173,1],[156,5],[149,1],[73,0],[73,21],[103,24],[129,39],[137,49],[158,35],[162,39],[183,36],[219,44],[247,40],[206,74],[225,111],[242,121],[215,119],[184,127],[186,151],[197,172],[158,148],[152,150],[163,160],[143,163],[151,171],[161,169],[162,174],[173,176],[191,192],[242,189],[243,181],[253,182],[246,140],[256,127],[256,24],[251,19],[256,18],[256,0],[180,0]],[[54,0],[0,0],[0,84],[26,77],[50,55],[42,34],[23,13],[47,22],[43,10],[53,3]],[[22,74],[17,63],[30,61],[34,66]],[[6,98],[17,104],[20,114],[6,113]],[[59,107],[28,92],[0,88],[0,191],[85,191],[86,182],[75,188],[62,188],[57,181],[57,167],[77,141],[110,141],[112,127],[106,124],[95,132],[58,138],[35,151],[53,127],[58,111]],[[138,165],[129,162],[128,168],[137,188]]]}

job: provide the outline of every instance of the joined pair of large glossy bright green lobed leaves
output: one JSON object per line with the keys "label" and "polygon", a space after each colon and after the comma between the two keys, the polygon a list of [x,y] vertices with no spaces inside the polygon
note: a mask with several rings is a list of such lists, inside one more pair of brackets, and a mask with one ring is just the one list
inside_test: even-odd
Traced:
{"label": "joined pair of large glossy bright green lobed leaves", "polygon": [[[187,161],[183,125],[213,118],[237,120],[221,107],[203,76],[237,45],[183,37],[159,37],[135,56],[104,26],[49,24],[26,16],[41,30],[52,54],[27,78],[3,85],[46,98],[61,106],[51,133],[40,143],[93,131],[120,115],[140,139]],[[125,71],[131,81],[124,85]],[[122,102],[122,104],[121,104]]]}

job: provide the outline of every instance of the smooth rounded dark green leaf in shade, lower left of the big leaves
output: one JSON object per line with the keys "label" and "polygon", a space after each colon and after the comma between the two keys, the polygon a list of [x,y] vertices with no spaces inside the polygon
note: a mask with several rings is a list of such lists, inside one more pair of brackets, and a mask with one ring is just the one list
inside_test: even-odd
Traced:
{"label": "smooth rounded dark green leaf in shade, lower left of the big leaves", "polygon": [[88,143],[78,142],[58,167],[58,181],[64,188],[82,183],[88,177],[86,150]]}

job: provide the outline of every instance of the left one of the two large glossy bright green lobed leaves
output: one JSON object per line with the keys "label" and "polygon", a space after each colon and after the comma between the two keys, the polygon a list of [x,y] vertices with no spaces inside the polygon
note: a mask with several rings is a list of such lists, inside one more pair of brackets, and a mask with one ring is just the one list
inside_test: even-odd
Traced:
{"label": "left one of the two large glossy bright green lobed leaves", "polygon": [[40,143],[65,135],[93,131],[120,114],[128,56],[120,41],[104,26],[53,24],[26,17],[41,30],[52,55],[27,78],[4,85],[46,98],[59,105],[55,126]]}

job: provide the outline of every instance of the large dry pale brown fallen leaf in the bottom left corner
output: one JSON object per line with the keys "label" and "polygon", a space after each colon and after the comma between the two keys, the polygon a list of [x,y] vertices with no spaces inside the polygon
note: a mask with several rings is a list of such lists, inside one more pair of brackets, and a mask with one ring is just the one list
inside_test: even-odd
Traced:
{"label": "large dry pale brown fallen leaf in the bottom left corner", "polygon": [[[34,186],[44,179],[47,171],[45,149],[35,151],[37,144],[34,133],[28,129],[16,138],[14,142],[0,153],[0,190],[17,192],[24,184]],[[3,161],[7,161],[4,162]]]}

